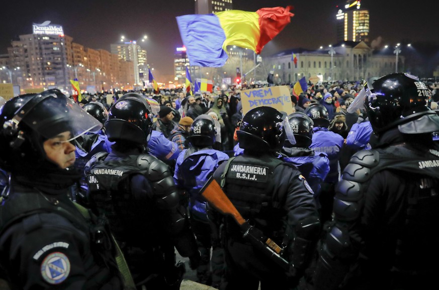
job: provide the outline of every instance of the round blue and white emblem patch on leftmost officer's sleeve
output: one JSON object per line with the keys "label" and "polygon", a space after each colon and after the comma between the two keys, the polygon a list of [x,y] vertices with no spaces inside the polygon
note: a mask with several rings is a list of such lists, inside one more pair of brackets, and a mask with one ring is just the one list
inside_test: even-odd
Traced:
{"label": "round blue and white emblem patch on leftmost officer's sleeve", "polygon": [[62,283],[70,273],[70,261],[61,252],[47,255],[41,263],[41,275],[49,284]]}

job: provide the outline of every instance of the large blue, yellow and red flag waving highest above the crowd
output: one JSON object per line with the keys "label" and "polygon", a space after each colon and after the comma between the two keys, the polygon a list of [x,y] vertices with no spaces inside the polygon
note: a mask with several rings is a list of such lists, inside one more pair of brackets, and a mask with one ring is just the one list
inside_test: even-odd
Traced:
{"label": "large blue, yellow and red flag waving highest above the crowd", "polygon": [[294,16],[290,13],[292,8],[262,8],[256,12],[228,10],[177,17],[190,64],[222,67],[228,58],[228,45],[248,48],[259,54],[290,23]]}

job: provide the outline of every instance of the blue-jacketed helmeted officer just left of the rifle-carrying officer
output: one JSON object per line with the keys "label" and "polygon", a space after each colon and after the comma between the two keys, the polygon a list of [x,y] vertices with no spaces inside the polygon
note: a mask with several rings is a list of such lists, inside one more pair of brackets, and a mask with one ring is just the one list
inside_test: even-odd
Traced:
{"label": "blue-jacketed helmeted officer just left of the rifle-carrying officer", "polygon": [[[219,239],[211,241],[211,228],[206,214],[206,200],[201,196],[200,189],[206,183],[218,166],[229,159],[221,151],[212,149],[215,143],[216,128],[212,117],[199,115],[191,125],[188,140],[190,148],[185,149],[177,159],[174,181],[178,187],[189,195],[190,221],[198,249],[201,252],[200,266],[197,268],[197,282],[214,285],[218,288],[222,277],[221,247]],[[213,247],[212,260],[210,248]],[[218,251],[217,251],[218,249]],[[209,262],[211,260],[211,263]],[[212,264],[213,275],[210,271]]]}

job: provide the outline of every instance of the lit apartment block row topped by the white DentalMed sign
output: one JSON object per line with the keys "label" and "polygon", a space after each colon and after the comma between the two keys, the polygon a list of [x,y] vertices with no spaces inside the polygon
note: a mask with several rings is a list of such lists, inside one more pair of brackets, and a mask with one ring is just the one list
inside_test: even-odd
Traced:
{"label": "lit apartment block row topped by the white DentalMed sign", "polygon": [[[81,90],[133,88],[132,61],[74,43],[72,37],[64,35],[62,26],[49,24],[34,24],[32,34],[11,42],[8,55],[0,57],[0,82],[12,82],[24,92],[49,88],[71,91],[70,80],[75,78]],[[144,60],[146,63],[146,52]]]}

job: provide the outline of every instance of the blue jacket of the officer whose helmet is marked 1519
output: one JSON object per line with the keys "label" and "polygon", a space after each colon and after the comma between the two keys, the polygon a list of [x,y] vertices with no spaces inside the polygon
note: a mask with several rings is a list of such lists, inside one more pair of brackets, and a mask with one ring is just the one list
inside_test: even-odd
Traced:
{"label": "blue jacket of the officer whose helmet is marked 1519", "polygon": [[339,134],[329,131],[328,128],[314,127],[310,148],[315,152],[326,153],[329,159],[329,173],[324,182],[338,182],[338,158],[344,139]]}

